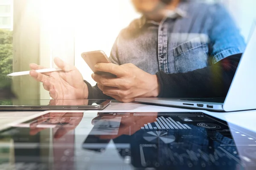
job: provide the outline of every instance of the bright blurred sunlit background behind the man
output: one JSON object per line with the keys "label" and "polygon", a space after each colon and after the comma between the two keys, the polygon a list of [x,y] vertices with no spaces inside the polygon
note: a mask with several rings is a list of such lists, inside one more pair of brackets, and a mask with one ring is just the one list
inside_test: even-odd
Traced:
{"label": "bright blurred sunlit background behind the man", "polygon": [[[201,1],[223,3],[247,42],[256,25],[255,0]],[[31,77],[6,74],[27,71],[32,62],[55,67],[54,57],[75,65],[94,85],[80,54],[102,50],[109,55],[119,31],[138,17],[131,0],[0,0],[0,89],[12,88],[21,99],[49,99]]]}

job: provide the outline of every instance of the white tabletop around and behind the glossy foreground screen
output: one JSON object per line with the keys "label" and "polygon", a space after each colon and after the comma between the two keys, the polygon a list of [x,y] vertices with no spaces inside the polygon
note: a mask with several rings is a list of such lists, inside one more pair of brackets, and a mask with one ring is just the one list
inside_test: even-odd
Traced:
{"label": "white tabletop around and behind the glossy foreground screen", "polygon": [[[246,129],[256,132],[256,110],[251,111],[237,111],[237,112],[211,112],[203,110],[190,110],[183,108],[172,108],[155,105],[143,105],[139,103],[111,103],[103,111],[85,111],[85,113],[98,112],[203,112],[214,116],[218,119],[239,125]],[[58,111],[55,111],[58,112]],[[61,111],[63,112],[63,111]],[[81,112],[81,111],[78,111]],[[32,112],[0,112],[0,129],[6,127],[9,123],[26,120],[30,117],[40,115],[40,111]]]}

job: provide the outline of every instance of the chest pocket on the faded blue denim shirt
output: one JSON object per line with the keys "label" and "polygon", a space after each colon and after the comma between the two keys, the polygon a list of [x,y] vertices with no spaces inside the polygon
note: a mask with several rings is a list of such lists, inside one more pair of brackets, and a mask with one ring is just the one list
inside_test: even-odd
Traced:
{"label": "chest pocket on the faded blue denim shirt", "polygon": [[208,65],[208,43],[201,37],[183,42],[173,49],[177,73],[186,73]]}

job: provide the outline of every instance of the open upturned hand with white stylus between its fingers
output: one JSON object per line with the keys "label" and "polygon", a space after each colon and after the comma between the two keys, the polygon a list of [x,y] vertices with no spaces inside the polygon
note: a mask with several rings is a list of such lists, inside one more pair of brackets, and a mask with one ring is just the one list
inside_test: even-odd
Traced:
{"label": "open upturned hand with white stylus between its fingers", "polygon": [[62,71],[41,74],[35,70],[44,69],[43,66],[30,64],[30,76],[42,82],[53,99],[87,99],[88,88],[79,70],[58,57],[54,62]]}

